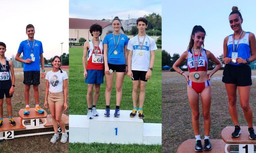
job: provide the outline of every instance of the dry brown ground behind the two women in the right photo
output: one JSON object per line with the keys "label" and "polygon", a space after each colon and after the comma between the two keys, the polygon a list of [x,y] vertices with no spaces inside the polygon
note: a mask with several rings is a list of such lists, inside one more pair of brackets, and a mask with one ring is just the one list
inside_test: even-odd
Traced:
{"label": "dry brown ground behind the two women in the right photo", "polygon": [[[188,73],[188,72],[187,72]],[[217,71],[211,78],[211,132],[210,139],[221,139],[221,131],[226,126],[233,126],[228,110],[228,99],[224,83],[221,81],[223,70]],[[250,106],[256,125],[256,71],[252,70]],[[237,92],[238,95],[238,92]],[[200,107],[200,134],[204,136],[202,104]],[[238,118],[242,126],[247,126],[239,97],[237,98]],[[176,152],[181,143],[194,139],[191,123],[191,109],[187,98],[185,78],[176,72],[162,72],[162,152]]]}

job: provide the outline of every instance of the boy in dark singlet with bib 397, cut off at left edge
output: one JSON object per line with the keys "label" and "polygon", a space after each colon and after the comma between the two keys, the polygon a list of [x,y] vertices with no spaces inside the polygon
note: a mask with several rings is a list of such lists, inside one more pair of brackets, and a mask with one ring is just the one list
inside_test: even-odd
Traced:
{"label": "boy in dark singlet with bib 397, cut off at left edge", "polygon": [[[14,93],[15,76],[13,70],[12,61],[7,60],[4,53],[6,51],[6,45],[0,42],[0,127],[3,126],[3,98],[5,95],[5,101],[7,104],[7,111],[9,115],[9,122],[11,125],[15,125],[15,121],[12,119],[12,104],[11,98]],[[10,75],[11,72],[11,75]]]}

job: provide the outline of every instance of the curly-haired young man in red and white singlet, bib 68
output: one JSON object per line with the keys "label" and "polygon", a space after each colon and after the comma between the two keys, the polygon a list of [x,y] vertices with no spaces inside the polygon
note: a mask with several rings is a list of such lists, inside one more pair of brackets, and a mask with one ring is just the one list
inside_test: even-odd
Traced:
{"label": "curly-haired young man in red and white singlet, bib 68", "polygon": [[[87,85],[87,118],[91,119],[93,116],[98,116],[99,113],[96,110],[96,104],[100,96],[100,84],[103,83],[104,77],[104,62],[103,62],[103,44],[99,39],[102,33],[102,27],[99,24],[93,24],[90,27],[92,40],[84,43],[83,54],[83,66],[84,66],[84,78]],[[97,45],[97,46],[96,46]],[[86,66],[86,59],[88,64]],[[94,86],[94,99],[93,107],[91,107],[91,100]]]}

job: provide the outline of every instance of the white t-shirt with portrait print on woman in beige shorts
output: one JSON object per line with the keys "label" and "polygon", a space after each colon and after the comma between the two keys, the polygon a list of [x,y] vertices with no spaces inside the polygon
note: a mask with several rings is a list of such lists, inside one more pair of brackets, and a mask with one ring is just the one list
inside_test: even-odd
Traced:
{"label": "white t-shirt with portrait print on woman in beige shorts", "polygon": [[49,71],[46,73],[46,80],[49,82],[49,91],[53,93],[63,91],[63,80],[68,79],[67,72],[60,70],[58,72]]}

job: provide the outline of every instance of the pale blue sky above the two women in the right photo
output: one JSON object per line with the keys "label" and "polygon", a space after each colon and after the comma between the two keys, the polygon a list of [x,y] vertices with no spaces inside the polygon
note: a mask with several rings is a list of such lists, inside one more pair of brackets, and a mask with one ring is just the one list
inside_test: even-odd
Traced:
{"label": "pale blue sky above the two women in the right photo", "polygon": [[204,48],[216,57],[223,53],[224,38],[233,33],[229,26],[232,6],[242,14],[242,29],[256,34],[255,0],[182,0],[162,1],[162,49],[173,55],[182,54],[189,44],[195,25],[204,28]]}

